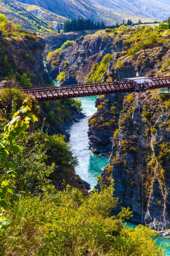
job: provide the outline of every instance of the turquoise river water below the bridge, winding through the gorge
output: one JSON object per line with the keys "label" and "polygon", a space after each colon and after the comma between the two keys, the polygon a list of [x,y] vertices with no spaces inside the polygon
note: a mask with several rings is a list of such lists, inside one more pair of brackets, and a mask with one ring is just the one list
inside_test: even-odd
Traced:
{"label": "turquoise river water below the bridge, winding through the gorge", "polygon": [[[91,189],[93,189],[97,181],[96,173],[100,174],[109,160],[108,157],[92,154],[88,149],[88,118],[96,112],[96,99],[97,96],[80,98],[83,108],[82,112],[85,113],[86,117],[78,123],[73,123],[70,128],[67,129],[67,132],[70,133],[70,143],[72,145],[73,154],[77,156],[79,163],[75,168],[75,172],[81,179],[90,183]],[[136,226],[134,223],[127,223],[126,225],[133,228]],[[170,245],[170,239],[158,237],[157,244],[161,245],[162,243]],[[170,247],[166,248],[166,255],[170,256]]]}

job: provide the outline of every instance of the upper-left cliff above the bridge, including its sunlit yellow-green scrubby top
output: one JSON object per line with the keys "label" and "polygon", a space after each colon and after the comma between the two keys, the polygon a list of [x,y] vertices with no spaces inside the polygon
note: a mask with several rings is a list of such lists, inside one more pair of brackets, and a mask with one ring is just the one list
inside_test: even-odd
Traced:
{"label": "upper-left cliff above the bridge, including its sunlit yellow-green scrubby top", "polygon": [[44,41],[36,33],[23,30],[0,14],[1,77],[35,85],[49,82],[43,72],[43,49]]}

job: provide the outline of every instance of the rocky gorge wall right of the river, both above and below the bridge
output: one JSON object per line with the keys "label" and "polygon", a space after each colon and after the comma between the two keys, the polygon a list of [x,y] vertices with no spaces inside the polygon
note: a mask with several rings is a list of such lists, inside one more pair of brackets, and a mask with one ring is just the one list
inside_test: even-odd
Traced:
{"label": "rocky gorge wall right of the river, both above and below the bridge", "polygon": [[[135,42],[139,42],[142,35],[138,37],[139,32],[144,36],[148,33],[150,37],[153,29],[142,31],[143,28],[129,31],[130,37],[133,33]],[[132,43],[130,39],[126,41],[126,34],[97,32],[81,37],[63,50],[60,57],[54,55],[48,68],[54,77],[65,72],[63,84],[84,83],[89,79],[111,81],[145,74],[154,77],[170,71],[170,41],[166,34],[158,35],[157,40],[149,39],[153,43],[148,40],[139,49],[134,47],[133,40]],[[101,61],[107,54],[112,54],[112,60],[103,69]],[[58,59],[56,66],[51,67],[52,61]],[[111,153],[101,177],[106,184],[110,184],[111,178],[115,180],[120,207],[129,206],[133,210],[133,221],[163,230],[170,228],[170,100],[160,97],[156,90],[142,92],[140,113],[139,95],[135,101],[134,107],[134,94],[106,95],[97,99],[97,113],[89,120],[90,149],[97,154]],[[114,213],[119,210],[118,207]]]}

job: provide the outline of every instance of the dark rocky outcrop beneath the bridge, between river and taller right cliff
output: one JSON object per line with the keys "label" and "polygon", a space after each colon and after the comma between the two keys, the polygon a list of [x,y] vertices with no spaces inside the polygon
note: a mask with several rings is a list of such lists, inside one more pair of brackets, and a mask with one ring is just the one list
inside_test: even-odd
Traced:
{"label": "dark rocky outcrop beneath the bridge, between river and taller right cliff", "polygon": [[88,122],[89,149],[95,154],[110,156],[122,101],[123,94],[106,95],[96,100],[97,112]]}

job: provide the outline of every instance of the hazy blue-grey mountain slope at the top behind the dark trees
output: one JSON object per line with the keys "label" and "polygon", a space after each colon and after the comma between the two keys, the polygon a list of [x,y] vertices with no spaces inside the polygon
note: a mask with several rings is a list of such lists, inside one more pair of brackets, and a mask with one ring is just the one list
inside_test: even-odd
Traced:
{"label": "hazy blue-grey mountain slope at the top behind the dark trees", "polygon": [[[107,25],[112,25],[116,23],[116,21],[120,23],[129,18],[131,18],[133,22],[137,22],[139,18],[143,22],[153,21],[149,15],[146,15],[143,11],[139,11],[138,8],[135,8],[132,4],[127,3],[127,0],[124,0],[123,2],[120,2],[120,0],[116,1],[118,2],[117,5],[115,5],[115,1],[113,0],[106,0],[105,2],[102,2],[102,0],[20,0],[20,2],[27,4],[27,6],[23,5],[23,7],[38,18],[41,18],[40,16],[42,16],[42,14],[35,11],[35,8],[38,10],[39,6],[41,11],[38,10],[38,12],[41,13],[42,8],[44,8],[43,12],[46,9],[50,11],[51,14],[55,13],[70,19],[83,17],[93,20],[105,20]],[[36,7],[33,7],[34,5],[36,5]],[[132,11],[129,11],[127,8],[128,5]],[[49,22],[44,15],[42,18]]]}

